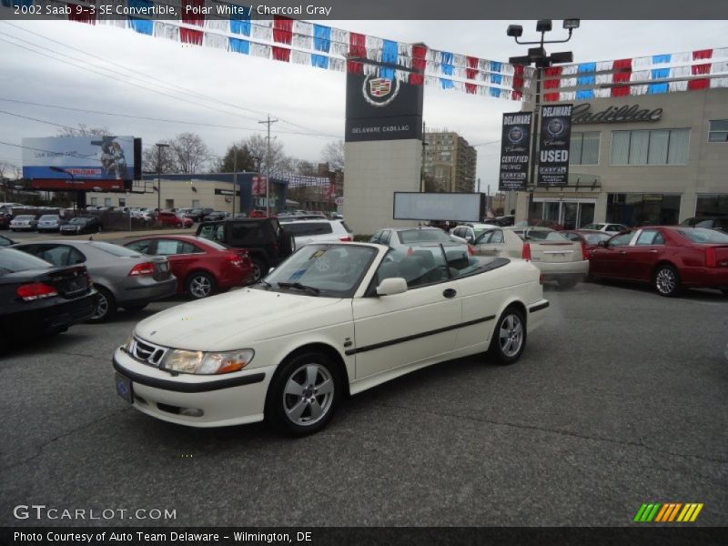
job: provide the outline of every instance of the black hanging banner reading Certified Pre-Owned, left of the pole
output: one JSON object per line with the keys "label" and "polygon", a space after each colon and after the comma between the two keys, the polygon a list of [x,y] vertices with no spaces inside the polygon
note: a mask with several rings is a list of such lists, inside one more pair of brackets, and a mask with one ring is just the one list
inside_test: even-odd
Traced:
{"label": "black hanging banner reading Certified Pre-Owned, left of the pole", "polygon": [[529,183],[531,112],[503,114],[499,191],[523,191]]}

